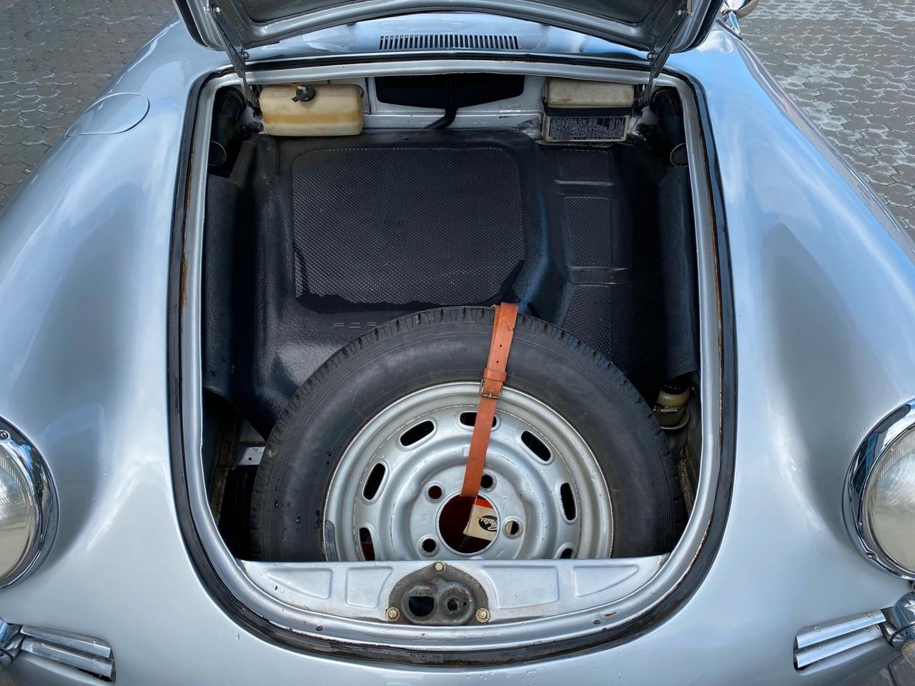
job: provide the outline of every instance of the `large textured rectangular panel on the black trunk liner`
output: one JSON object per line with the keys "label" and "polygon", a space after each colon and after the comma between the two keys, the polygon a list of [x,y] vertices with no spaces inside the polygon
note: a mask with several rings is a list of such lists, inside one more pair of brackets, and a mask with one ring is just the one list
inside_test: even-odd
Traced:
{"label": "large textured rectangular panel on the black trunk liner", "polygon": [[514,156],[363,140],[293,163],[296,297],[318,311],[497,299],[524,259]]}

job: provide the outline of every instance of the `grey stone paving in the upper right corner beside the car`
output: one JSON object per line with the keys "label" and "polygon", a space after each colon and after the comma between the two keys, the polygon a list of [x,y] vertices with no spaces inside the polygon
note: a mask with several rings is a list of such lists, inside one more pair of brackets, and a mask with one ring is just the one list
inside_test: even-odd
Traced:
{"label": "grey stone paving in the upper right corner beside the car", "polygon": [[915,230],[915,0],[762,0],[740,27],[782,87]]}

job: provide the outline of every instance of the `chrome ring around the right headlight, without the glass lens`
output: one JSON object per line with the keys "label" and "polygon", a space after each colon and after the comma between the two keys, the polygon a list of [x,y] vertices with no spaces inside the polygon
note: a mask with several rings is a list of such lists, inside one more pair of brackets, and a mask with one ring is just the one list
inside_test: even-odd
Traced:
{"label": "chrome ring around the right headlight, without the glass lens", "polygon": [[915,570],[902,566],[884,551],[868,526],[865,494],[882,459],[912,429],[915,429],[915,400],[888,414],[867,434],[848,469],[843,498],[845,526],[857,549],[884,572],[908,581],[915,581]]}

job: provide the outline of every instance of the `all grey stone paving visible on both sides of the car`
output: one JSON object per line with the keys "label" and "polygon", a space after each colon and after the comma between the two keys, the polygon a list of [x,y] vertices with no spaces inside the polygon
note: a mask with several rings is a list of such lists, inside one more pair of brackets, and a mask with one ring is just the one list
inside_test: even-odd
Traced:
{"label": "all grey stone paving visible on both sides of the car", "polygon": [[[0,211],[171,13],[167,0],[0,0]],[[915,231],[915,0],[762,0],[741,26],[785,89]],[[868,683],[915,686],[915,672],[896,662]]]}

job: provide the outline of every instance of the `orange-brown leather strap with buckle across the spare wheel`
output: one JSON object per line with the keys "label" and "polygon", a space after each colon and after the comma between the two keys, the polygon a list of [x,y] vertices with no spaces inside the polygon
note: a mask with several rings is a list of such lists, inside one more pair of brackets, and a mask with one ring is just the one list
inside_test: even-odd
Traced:
{"label": "orange-brown leather strap with buckle across the spare wheel", "polygon": [[502,384],[507,378],[505,365],[509,360],[511,338],[514,336],[515,319],[518,317],[518,305],[515,303],[496,305],[495,310],[496,321],[492,326],[490,359],[486,362],[483,380],[479,383],[477,421],[473,424],[467,468],[464,470],[464,485],[460,489],[461,496],[465,498],[476,498],[479,493],[479,480],[483,477],[486,451],[490,446],[492,420],[496,416],[496,403],[501,398]]}

